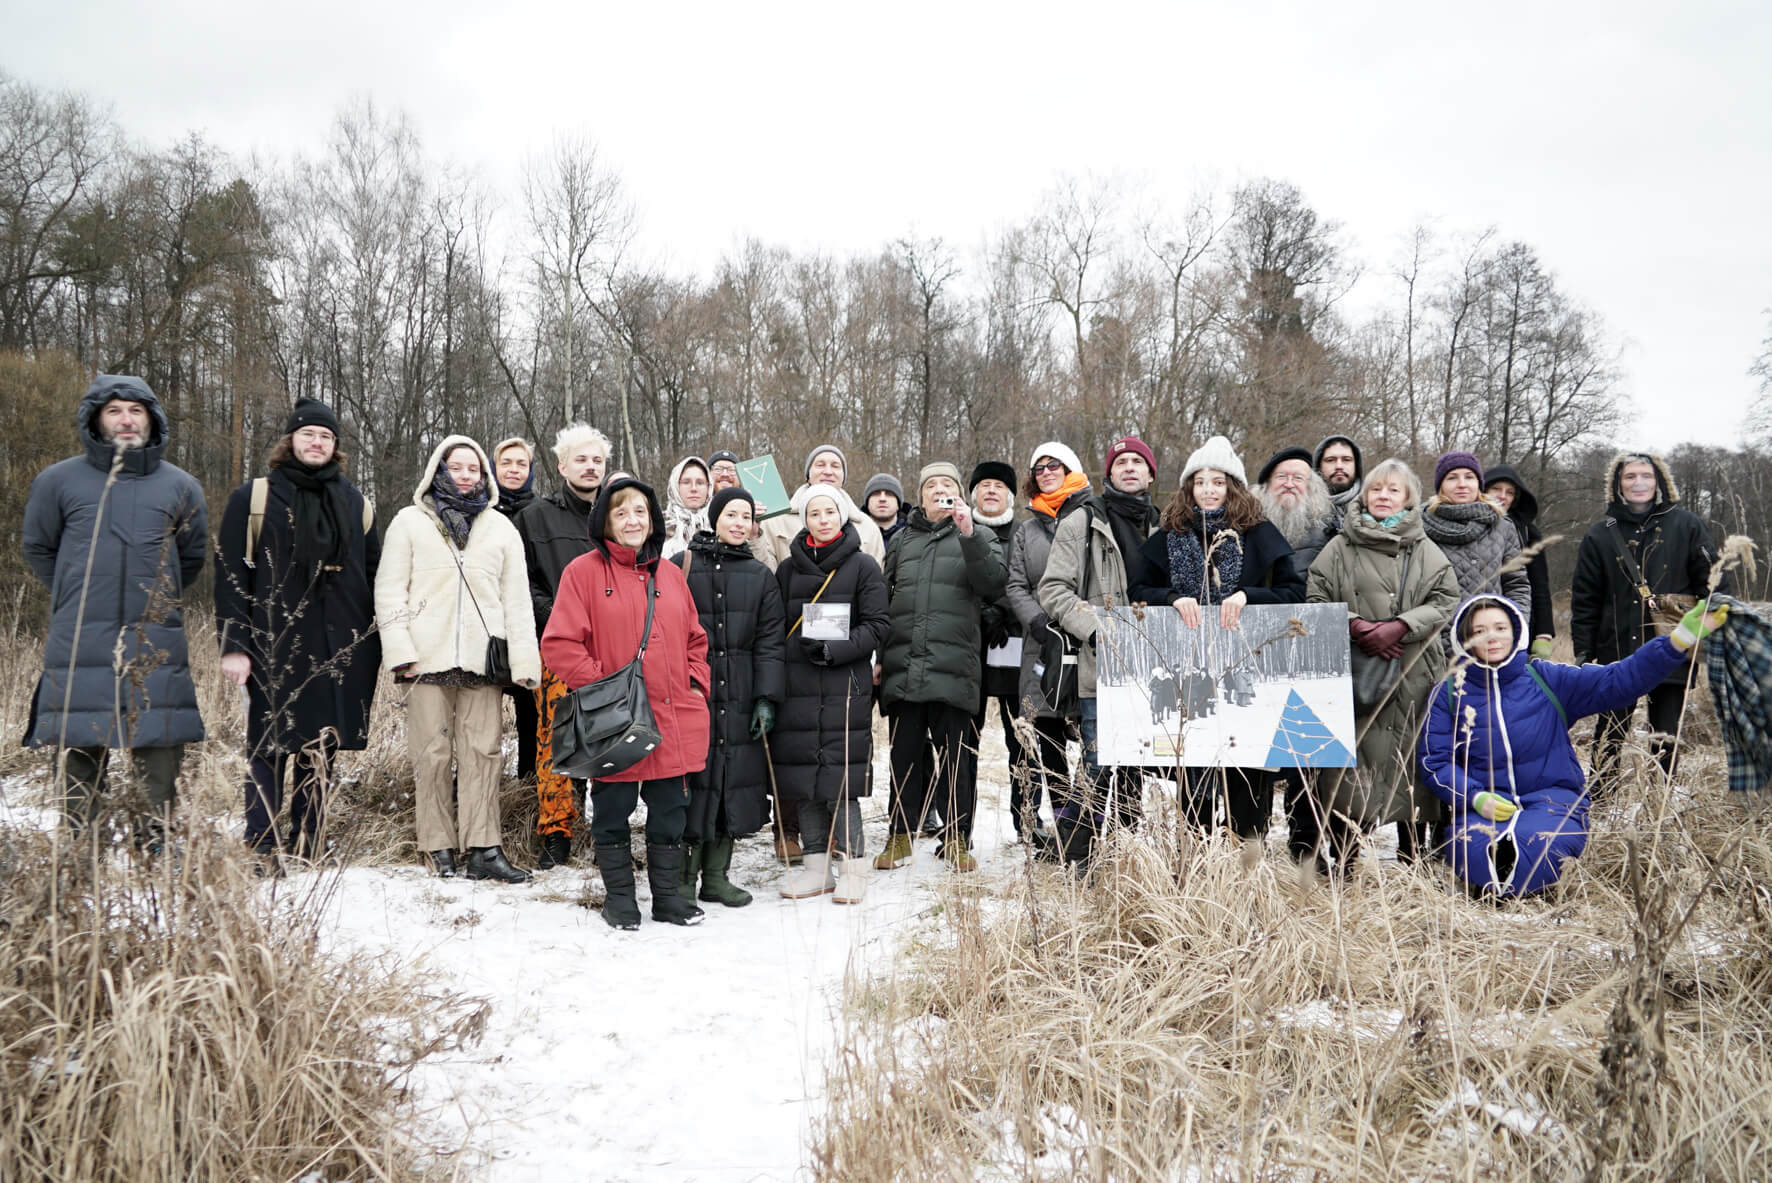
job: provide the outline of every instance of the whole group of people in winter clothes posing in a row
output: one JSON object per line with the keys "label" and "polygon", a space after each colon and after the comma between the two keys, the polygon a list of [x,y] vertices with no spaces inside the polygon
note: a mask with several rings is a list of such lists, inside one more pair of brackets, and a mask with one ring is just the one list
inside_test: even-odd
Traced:
{"label": "whole group of people in winter clothes posing in a row", "polygon": [[[140,379],[99,375],[78,425],[85,455],[37,476],[23,522],[51,595],[28,742],[57,749],[76,832],[97,816],[108,749],[126,749],[145,792],[136,838],[152,848],[183,746],[204,737],[179,602],[211,545],[206,506],[165,460],[167,416]],[[1517,469],[1485,471],[1460,450],[1439,457],[1423,496],[1402,460],[1368,471],[1350,436],[1281,448],[1255,482],[1214,436],[1161,496],[1138,436],[1093,471],[1049,441],[1019,468],[925,464],[909,498],[879,473],[856,503],[847,457],[826,443],[790,510],[762,517],[732,452],[684,457],[661,498],[610,473],[610,441],[574,423],[553,441],[548,492],[530,443],[445,437],[381,530],[338,436],[330,407],[296,402],[268,473],[232,492],[213,542],[222,671],[248,700],[246,843],[268,866],[324,852],[335,756],[367,744],[385,668],[406,687],[418,848],[443,877],[528,880],[500,829],[512,696],[537,866],[569,862],[588,813],[617,928],[640,924],[629,823],[641,800],[657,921],[748,903],[734,843],[766,827],[794,866],[780,887],[792,900],[856,903],[868,871],[904,866],[925,834],[971,871],[991,698],[1010,822],[1042,857],[1086,866],[1104,827],[1139,822],[1157,774],[1178,779],[1198,827],[1228,825],[1251,857],[1279,790],[1292,855],[1325,871],[1396,823],[1403,859],[1435,852],[1473,891],[1540,891],[1581,852],[1636,700],[1648,694],[1652,726],[1675,731],[1689,650],[1726,616],[1705,611],[1715,553],[1703,522],[1641,453],[1613,464],[1605,517],[1581,544],[1577,662],[1561,666],[1533,492]],[[1678,595],[1698,602],[1657,638],[1653,611]],[[1345,604],[1356,662],[1372,666],[1356,671],[1377,685],[1356,703],[1356,769],[1100,765],[1095,609],[1143,602],[1185,627],[1212,615],[1235,629],[1247,604],[1306,600]],[[1044,677],[1065,652],[1074,707]],[[560,776],[556,712],[636,657],[656,747],[588,785]],[[875,708],[891,785],[870,861],[859,802]],[[1591,786],[1568,740],[1588,714],[1600,715]],[[1657,742],[1671,772],[1675,749]]]}

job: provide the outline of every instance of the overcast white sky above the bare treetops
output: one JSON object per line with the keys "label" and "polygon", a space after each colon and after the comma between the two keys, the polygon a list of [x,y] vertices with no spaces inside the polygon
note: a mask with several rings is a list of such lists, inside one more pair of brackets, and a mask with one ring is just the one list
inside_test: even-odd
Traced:
{"label": "overcast white sky above the bare treetops", "polygon": [[0,0],[0,67],[151,142],[315,151],[406,110],[509,186],[595,140],[649,250],[971,246],[1060,174],[1180,209],[1274,175],[1347,228],[1354,299],[1419,220],[1531,243],[1621,347],[1634,443],[1735,443],[1772,306],[1768,4],[427,4]]}

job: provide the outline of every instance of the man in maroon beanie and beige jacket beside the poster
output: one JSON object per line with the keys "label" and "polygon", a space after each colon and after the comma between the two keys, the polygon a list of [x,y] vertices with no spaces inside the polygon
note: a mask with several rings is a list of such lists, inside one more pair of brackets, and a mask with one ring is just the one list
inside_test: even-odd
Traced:
{"label": "man in maroon beanie and beige jacket beside the poster", "polygon": [[[1108,446],[1104,460],[1108,487],[1079,514],[1058,522],[1045,574],[1035,599],[1054,625],[1081,643],[1077,653],[1077,698],[1081,708],[1083,763],[1090,800],[1054,802],[1053,825],[1067,862],[1081,864],[1090,855],[1097,827],[1106,820],[1109,795],[1123,825],[1138,820],[1143,802],[1143,774],[1115,769],[1102,774],[1095,760],[1095,613],[1109,600],[1125,604],[1127,576],[1138,561],[1138,549],[1157,528],[1161,514],[1150,503],[1150,485],[1157,478],[1157,457],[1138,436],[1125,436]],[[1084,586],[1086,584],[1086,586]]]}

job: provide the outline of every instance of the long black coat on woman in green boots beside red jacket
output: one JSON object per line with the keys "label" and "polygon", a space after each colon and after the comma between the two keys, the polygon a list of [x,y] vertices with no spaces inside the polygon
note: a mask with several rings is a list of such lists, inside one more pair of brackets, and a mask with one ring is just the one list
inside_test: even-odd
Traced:
{"label": "long black coat on woman in green boots beside red jacket", "polygon": [[670,561],[684,568],[695,611],[707,630],[707,767],[689,774],[689,841],[727,834],[748,838],[769,820],[769,760],[751,738],[751,707],[787,696],[781,588],[748,545],[727,545],[709,531]]}

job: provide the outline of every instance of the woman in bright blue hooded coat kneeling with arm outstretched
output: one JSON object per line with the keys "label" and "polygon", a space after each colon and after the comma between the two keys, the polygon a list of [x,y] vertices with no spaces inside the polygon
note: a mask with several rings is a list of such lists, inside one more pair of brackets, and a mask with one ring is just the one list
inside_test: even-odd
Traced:
{"label": "woman in bright blue hooded coat kneeling with arm outstretched", "polygon": [[1588,847],[1588,786],[1568,738],[1575,719],[1618,710],[1659,685],[1728,606],[1694,607],[1671,638],[1611,666],[1533,661],[1524,613],[1476,595],[1453,615],[1453,673],[1434,687],[1421,772],[1451,813],[1444,857],[1473,893],[1527,896]]}

